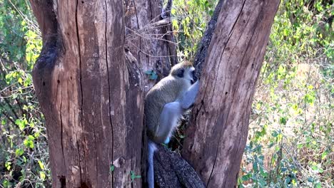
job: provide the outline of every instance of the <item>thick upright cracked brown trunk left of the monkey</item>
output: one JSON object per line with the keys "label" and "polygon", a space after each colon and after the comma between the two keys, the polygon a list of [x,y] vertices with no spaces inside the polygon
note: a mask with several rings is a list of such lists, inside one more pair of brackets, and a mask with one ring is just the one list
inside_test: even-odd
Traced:
{"label": "thick upright cracked brown trunk left of the monkey", "polygon": [[142,172],[142,74],[124,53],[122,1],[58,1],[57,16],[51,0],[31,5],[44,41],[33,78],[53,187],[141,187],[131,171]]}

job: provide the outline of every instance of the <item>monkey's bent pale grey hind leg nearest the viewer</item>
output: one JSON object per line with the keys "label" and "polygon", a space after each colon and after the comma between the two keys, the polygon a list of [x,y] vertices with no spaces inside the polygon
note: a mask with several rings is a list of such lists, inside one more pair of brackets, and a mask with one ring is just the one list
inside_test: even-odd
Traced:
{"label": "monkey's bent pale grey hind leg nearest the viewer", "polygon": [[180,103],[172,102],[163,106],[163,110],[159,119],[158,130],[156,130],[156,138],[160,142],[168,142],[173,129],[178,125],[178,119],[182,117],[183,109]]}

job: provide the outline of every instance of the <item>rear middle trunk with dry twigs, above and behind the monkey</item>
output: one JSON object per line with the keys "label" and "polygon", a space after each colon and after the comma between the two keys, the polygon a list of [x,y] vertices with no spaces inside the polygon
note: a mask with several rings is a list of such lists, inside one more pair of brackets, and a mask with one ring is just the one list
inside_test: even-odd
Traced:
{"label": "rear middle trunk with dry twigs, above and behind the monkey", "polygon": [[[168,75],[175,64],[176,48],[173,43],[171,21],[161,17],[162,0],[126,0],[126,47],[138,60],[143,72],[156,71],[157,80],[143,80],[148,91],[158,80]],[[174,48],[173,48],[174,46]]]}

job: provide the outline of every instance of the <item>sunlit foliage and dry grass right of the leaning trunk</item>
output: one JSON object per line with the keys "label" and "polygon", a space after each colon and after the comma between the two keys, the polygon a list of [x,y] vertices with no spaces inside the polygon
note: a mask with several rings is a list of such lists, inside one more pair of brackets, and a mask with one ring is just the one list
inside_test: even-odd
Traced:
{"label": "sunlit foliage and dry grass right of the leaning trunk", "polygon": [[333,185],[332,4],[280,4],[253,101],[239,187]]}

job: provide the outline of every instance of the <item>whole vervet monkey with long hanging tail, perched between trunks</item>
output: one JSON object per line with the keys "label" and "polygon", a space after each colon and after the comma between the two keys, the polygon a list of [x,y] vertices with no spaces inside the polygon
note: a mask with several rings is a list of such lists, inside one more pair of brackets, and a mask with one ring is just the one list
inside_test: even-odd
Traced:
{"label": "whole vervet monkey with long hanging tail, perched between trunks", "polygon": [[153,154],[155,143],[168,144],[173,130],[193,103],[198,93],[199,83],[193,83],[192,63],[178,63],[171,73],[148,91],[145,97],[145,120],[148,129],[148,187],[154,187]]}

